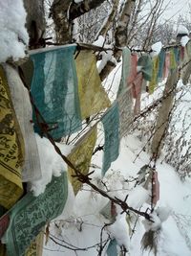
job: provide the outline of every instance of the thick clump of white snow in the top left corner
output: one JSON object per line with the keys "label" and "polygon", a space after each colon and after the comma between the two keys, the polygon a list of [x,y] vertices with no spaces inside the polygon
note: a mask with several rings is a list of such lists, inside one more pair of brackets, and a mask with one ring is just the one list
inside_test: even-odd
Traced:
{"label": "thick clump of white snow in the top left corner", "polygon": [[22,0],[0,1],[0,62],[25,57],[29,35]]}

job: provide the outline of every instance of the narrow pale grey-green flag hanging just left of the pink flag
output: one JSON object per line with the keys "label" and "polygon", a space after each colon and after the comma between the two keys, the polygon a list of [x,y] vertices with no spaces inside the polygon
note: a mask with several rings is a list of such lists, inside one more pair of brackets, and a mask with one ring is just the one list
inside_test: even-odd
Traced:
{"label": "narrow pale grey-green flag hanging just left of the pink flag", "polygon": [[117,91],[117,97],[126,90],[127,87],[127,79],[130,75],[131,71],[131,51],[124,47],[122,50],[122,70],[121,70],[121,78]]}

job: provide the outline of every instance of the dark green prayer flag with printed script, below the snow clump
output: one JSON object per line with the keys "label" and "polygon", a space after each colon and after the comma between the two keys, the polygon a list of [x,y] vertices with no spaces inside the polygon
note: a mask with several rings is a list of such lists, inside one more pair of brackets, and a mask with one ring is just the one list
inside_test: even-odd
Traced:
{"label": "dark green prayer flag with printed script, below the snow clump", "polygon": [[26,249],[47,221],[59,216],[68,197],[67,173],[53,176],[43,194],[28,193],[11,209],[10,225],[5,234],[7,256],[24,256]]}

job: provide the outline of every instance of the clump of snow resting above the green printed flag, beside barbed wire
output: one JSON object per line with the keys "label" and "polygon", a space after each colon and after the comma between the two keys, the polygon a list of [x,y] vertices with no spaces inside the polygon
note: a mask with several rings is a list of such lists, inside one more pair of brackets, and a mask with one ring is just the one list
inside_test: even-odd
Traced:
{"label": "clump of snow resting above the green printed flag, beside barbed wire", "polygon": [[[33,192],[33,195],[38,197],[45,191],[46,185],[51,182],[53,175],[59,176],[62,172],[66,172],[67,165],[61,156],[54,150],[52,143],[47,138],[40,138],[37,134],[35,137],[40,156],[42,177],[38,180],[29,182],[29,188]],[[64,155],[68,155],[73,148],[73,146],[66,146],[60,143],[56,143],[56,145]]]}

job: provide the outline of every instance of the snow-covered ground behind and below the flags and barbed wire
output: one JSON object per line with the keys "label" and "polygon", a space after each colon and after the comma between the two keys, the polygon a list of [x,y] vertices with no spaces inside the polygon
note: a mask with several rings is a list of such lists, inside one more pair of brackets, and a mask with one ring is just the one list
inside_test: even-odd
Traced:
{"label": "snow-covered ground behind and below the flags and barbed wire", "polygon": [[[120,67],[118,65],[105,85],[107,89],[113,84],[110,91],[111,99],[115,98],[119,78]],[[154,101],[156,97],[159,97],[162,88],[163,85],[161,83],[154,95],[148,96],[144,94],[142,96],[142,107],[145,107]],[[185,103],[187,103],[186,107],[189,108],[189,101],[185,101],[186,97],[189,98],[185,94],[181,105],[178,107],[179,111],[181,107],[185,109]],[[178,112],[176,113],[178,114]],[[181,118],[179,116],[177,120],[178,128],[181,128],[182,120],[183,115]],[[112,163],[110,170],[103,179],[101,179],[101,151],[98,151],[93,156],[91,171],[95,171],[92,175],[92,181],[98,187],[107,189],[110,196],[124,199],[129,195],[127,198],[128,204],[136,209],[145,211],[150,206],[150,190],[146,190],[142,186],[134,188],[134,178],[138,177],[138,171],[150,161],[150,155],[146,151],[142,151],[146,138],[141,137],[140,141],[140,137],[139,131],[136,130],[121,140],[117,161]],[[165,151],[161,154],[156,166],[160,184],[159,201],[156,208],[160,207],[163,212],[169,211],[170,215],[167,221],[161,223],[157,255],[190,256],[191,179],[186,177],[184,181],[180,181],[180,177],[175,172],[175,169],[163,161],[164,154]],[[98,254],[98,252],[100,251],[100,242],[102,241],[104,244],[108,238],[108,233],[112,238],[115,237],[117,239],[118,244],[124,244],[129,249],[126,255],[154,255],[153,252],[141,249],[140,242],[145,232],[142,223],[144,218],[137,218],[135,214],[131,214],[130,220],[128,218],[126,221],[125,215],[120,215],[121,210],[117,207],[117,222],[102,230],[104,224],[110,222],[106,213],[106,209],[108,210],[108,199],[101,197],[87,185],[83,186],[75,198],[72,188],[70,192],[70,198],[64,212],[61,217],[57,218],[57,220],[62,221],[56,220],[51,223],[51,235],[48,243],[44,244],[43,256],[106,256],[107,245],[103,248],[101,254]],[[137,222],[136,225],[135,222]],[[133,235],[131,229],[135,230]],[[72,249],[67,248],[67,246]]]}

